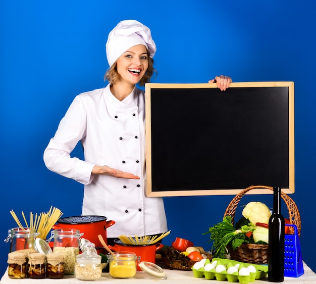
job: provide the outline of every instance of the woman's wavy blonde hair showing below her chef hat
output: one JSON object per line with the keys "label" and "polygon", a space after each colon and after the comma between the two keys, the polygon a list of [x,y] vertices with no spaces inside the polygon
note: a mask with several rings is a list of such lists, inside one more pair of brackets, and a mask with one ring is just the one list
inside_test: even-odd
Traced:
{"label": "woman's wavy blonde hair showing below her chef hat", "polygon": [[[153,68],[153,59],[149,56],[150,53],[147,51],[148,56],[148,68],[144,74],[144,76],[140,79],[139,85],[143,86],[145,83],[150,82],[150,78],[152,77],[153,73],[157,73],[157,71]],[[104,81],[108,80],[110,84],[115,84],[117,80],[120,78],[120,74],[118,73],[117,69],[118,63],[115,61],[113,65],[107,70],[106,74],[104,74]]]}

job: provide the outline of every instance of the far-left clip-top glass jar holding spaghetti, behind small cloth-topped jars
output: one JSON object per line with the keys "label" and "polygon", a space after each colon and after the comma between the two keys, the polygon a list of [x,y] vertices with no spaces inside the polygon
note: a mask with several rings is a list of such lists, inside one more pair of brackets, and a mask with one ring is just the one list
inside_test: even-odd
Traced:
{"label": "far-left clip-top glass jar holding spaghetti, behind small cloth-topped jars", "polygon": [[35,238],[38,234],[33,228],[12,228],[5,242],[10,241],[10,252],[34,249]]}

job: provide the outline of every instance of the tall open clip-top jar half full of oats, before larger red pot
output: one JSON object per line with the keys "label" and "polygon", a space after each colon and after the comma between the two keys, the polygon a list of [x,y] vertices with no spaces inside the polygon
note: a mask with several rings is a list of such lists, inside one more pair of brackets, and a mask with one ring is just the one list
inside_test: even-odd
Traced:
{"label": "tall open clip-top jar half full of oats, before larger red pot", "polygon": [[79,254],[80,231],[77,229],[56,229],[52,231],[54,246],[52,252],[64,255],[64,273],[74,274],[76,256]]}

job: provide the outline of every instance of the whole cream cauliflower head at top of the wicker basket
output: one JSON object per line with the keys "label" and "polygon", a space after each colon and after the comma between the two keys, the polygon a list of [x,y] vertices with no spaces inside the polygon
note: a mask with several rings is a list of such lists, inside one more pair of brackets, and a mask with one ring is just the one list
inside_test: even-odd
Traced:
{"label": "whole cream cauliflower head at top of the wicker basket", "polygon": [[271,212],[266,204],[252,201],[242,210],[242,216],[247,218],[253,225],[257,222],[268,224]]}

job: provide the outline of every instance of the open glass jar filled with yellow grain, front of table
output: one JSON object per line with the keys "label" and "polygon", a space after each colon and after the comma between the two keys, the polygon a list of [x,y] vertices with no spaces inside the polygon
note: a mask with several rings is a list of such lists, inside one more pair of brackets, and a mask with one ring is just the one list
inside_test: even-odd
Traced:
{"label": "open glass jar filled with yellow grain, front of table", "polygon": [[139,257],[132,252],[114,252],[110,254],[110,275],[113,278],[131,278],[136,275],[136,261]]}

